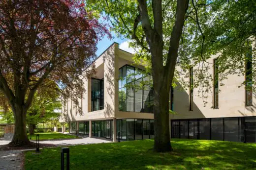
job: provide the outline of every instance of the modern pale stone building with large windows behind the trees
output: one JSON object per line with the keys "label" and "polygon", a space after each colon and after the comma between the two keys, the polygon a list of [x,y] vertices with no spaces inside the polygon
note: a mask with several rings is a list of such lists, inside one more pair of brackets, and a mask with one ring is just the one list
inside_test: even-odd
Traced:
{"label": "modern pale stone building with large windows behind the trees", "polygon": [[[70,133],[114,142],[118,137],[154,139],[152,77],[132,57],[114,43],[95,60],[96,74],[83,80],[86,93],[79,102],[83,113],[76,112],[70,99],[63,109]],[[171,88],[170,108],[175,113],[169,116],[171,137],[256,142],[256,93],[250,88],[255,77],[232,74],[220,86],[217,56],[207,61],[214,77],[207,97],[202,99],[197,95],[200,87],[193,87],[194,68],[182,77],[193,88],[179,83]],[[252,64],[251,60],[245,64],[246,75],[251,75]],[[238,88],[245,78],[249,87]]]}

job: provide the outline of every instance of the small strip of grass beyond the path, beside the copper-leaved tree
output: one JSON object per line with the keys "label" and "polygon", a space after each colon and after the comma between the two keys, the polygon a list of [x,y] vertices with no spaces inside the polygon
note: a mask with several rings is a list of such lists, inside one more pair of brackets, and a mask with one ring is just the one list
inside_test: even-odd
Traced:
{"label": "small strip of grass beyond the path, beside the copper-leaved tree", "polygon": [[[57,133],[57,132],[45,132],[45,133],[35,133],[32,135],[31,140],[36,140],[36,135],[39,134],[39,139],[40,140],[51,140],[51,139],[72,139],[76,138],[74,135],[66,135],[63,133]],[[30,135],[29,135],[30,139]]]}

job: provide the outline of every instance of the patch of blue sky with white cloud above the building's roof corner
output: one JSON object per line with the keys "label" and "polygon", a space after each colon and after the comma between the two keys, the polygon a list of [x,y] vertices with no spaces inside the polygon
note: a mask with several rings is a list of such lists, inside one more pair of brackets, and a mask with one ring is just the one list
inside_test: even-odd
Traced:
{"label": "patch of blue sky with white cloud above the building's roof corner", "polygon": [[96,54],[99,56],[104,50],[106,50],[112,43],[119,43],[119,48],[126,50],[128,52],[132,52],[132,49],[128,47],[128,39],[121,39],[116,36],[116,34],[112,31],[111,35],[113,36],[112,40],[109,40],[107,36],[105,36],[100,42],[97,44]]}

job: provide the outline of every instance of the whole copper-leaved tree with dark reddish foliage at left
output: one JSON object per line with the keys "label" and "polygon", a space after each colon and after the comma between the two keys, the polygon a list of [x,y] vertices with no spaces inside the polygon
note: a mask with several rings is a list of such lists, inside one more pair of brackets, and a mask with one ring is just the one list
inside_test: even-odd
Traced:
{"label": "whole copper-leaved tree with dark reddish foliage at left", "polygon": [[96,44],[105,34],[110,36],[106,25],[80,1],[0,0],[0,93],[15,120],[9,145],[30,144],[27,111],[38,87],[53,88],[46,78],[65,89],[66,97],[71,89],[81,97],[79,78],[94,72]]}

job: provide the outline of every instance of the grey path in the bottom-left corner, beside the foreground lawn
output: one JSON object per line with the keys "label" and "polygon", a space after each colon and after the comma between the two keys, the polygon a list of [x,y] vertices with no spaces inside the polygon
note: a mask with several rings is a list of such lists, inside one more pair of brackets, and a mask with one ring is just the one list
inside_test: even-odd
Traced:
{"label": "grey path in the bottom-left corner, beside the foreground lawn", "polygon": [[0,170],[23,170],[21,150],[0,151]]}

